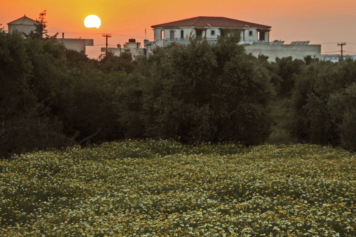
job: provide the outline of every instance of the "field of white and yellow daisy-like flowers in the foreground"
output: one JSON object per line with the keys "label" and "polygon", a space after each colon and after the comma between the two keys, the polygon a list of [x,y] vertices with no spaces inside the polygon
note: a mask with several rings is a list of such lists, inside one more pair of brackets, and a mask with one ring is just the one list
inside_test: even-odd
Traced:
{"label": "field of white and yellow daisy-like flowers in the foreground", "polygon": [[356,156],[111,142],[0,161],[0,236],[356,236]]}

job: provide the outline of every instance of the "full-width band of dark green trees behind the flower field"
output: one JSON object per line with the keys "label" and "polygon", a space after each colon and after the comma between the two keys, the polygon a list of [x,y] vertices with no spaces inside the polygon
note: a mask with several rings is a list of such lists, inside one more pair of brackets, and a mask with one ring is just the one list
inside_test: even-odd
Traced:
{"label": "full-width band of dark green trees behind the flower field", "polygon": [[191,37],[148,58],[97,61],[51,37],[1,30],[0,157],[126,138],[260,144],[276,95],[291,96],[290,131],[300,141],[355,149],[354,62],[269,63],[238,41]]}

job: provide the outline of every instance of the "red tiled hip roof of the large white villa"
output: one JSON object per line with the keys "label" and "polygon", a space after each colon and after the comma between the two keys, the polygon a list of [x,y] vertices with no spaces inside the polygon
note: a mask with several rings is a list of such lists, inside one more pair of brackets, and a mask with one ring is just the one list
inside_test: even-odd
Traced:
{"label": "red tiled hip roof of the large white villa", "polygon": [[235,20],[227,17],[217,17],[217,16],[198,16],[198,17],[193,17],[185,20],[180,20],[180,21],[173,21],[173,22],[168,22],[168,23],[163,23],[159,25],[154,25],[151,26],[152,28],[155,27],[187,27],[187,26],[192,26],[192,27],[209,27],[209,25],[212,27],[239,27],[239,28],[247,28],[248,25],[249,27],[252,28],[271,28],[271,26],[266,26],[266,25],[260,25],[252,22],[247,22],[247,21],[240,21],[240,20]]}

